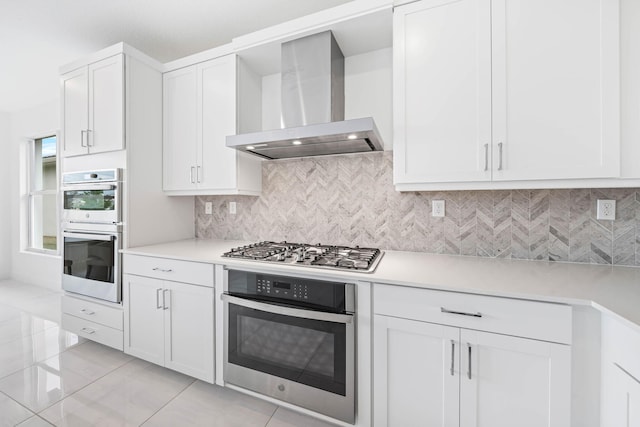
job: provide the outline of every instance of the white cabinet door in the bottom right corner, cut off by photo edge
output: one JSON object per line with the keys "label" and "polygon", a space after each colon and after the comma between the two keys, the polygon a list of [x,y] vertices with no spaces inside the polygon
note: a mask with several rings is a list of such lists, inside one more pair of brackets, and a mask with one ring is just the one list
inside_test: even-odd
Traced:
{"label": "white cabinet door in the bottom right corner, cut off by photo edge", "polygon": [[640,379],[614,363],[604,374],[601,425],[640,427]]}

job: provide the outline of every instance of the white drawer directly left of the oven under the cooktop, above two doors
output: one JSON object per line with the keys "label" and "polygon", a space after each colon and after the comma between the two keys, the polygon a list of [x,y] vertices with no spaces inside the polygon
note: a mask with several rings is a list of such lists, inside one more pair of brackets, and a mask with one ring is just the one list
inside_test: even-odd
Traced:
{"label": "white drawer directly left of the oven under the cooktop, above two doors", "polygon": [[125,274],[213,287],[213,264],[127,254],[123,258]]}

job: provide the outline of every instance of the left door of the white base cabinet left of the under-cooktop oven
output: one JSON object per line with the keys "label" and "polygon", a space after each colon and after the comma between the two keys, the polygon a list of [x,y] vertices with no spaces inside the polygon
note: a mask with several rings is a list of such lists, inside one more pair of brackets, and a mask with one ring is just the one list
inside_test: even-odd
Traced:
{"label": "left door of the white base cabinet left of the under-cooktop oven", "polygon": [[124,352],[164,365],[164,310],[161,280],[123,276]]}

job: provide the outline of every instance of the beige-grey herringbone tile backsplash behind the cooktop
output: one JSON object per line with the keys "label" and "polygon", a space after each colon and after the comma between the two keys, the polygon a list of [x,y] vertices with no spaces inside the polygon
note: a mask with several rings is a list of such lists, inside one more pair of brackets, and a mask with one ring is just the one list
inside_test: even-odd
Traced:
{"label": "beige-grey herringbone tile backsplash behind the cooktop", "polygon": [[[196,197],[196,236],[640,265],[640,189],[399,193],[392,174],[390,152],[264,162],[262,196]],[[595,219],[597,199],[617,201],[615,221]]]}

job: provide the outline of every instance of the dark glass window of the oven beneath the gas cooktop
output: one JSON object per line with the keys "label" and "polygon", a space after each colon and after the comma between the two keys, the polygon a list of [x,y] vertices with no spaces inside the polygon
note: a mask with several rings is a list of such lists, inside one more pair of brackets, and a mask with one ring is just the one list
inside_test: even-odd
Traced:
{"label": "dark glass window of the oven beneath the gas cooktop", "polygon": [[229,304],[229,362],[342,396],[346,325]]}

